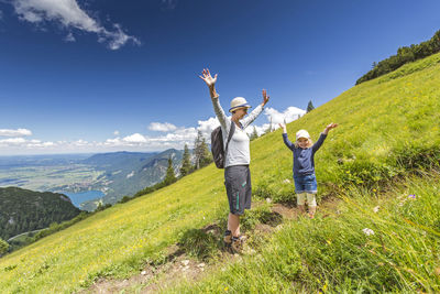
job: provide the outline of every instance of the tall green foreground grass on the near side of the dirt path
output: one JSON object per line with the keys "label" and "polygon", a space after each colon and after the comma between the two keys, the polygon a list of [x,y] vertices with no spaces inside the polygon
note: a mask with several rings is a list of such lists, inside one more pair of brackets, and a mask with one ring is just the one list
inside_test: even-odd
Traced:
{"label": "tall green foreground grass on the near side of the dirt path", "polygon": [[256,257],[164,292],[439,293],[439,196],[438,174],[410,177],[383,197],[353,187],[339,211],[292,221]]}

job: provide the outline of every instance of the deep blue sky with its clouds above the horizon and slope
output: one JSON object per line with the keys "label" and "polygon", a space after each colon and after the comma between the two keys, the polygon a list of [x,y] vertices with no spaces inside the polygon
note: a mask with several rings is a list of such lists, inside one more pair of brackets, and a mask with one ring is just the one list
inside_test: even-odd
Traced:
{"label": "deep blue sky with its clouds above the horizon and slope", "polygon": [[258,130],[440,30],[440,1],[0,0],[0,155],[158,151],[271,101]]}

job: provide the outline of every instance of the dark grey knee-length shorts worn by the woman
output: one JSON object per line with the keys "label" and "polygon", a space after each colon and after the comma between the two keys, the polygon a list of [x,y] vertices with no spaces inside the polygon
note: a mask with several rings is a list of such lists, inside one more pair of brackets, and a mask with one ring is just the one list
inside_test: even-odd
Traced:
{"label": "dark grey knee-length shorts worn by the woman", "polygon": [[251,208],[251,171],[249,165],[233,165],[224,168],[224,186],[227,187],[229,211],[243,215]]}

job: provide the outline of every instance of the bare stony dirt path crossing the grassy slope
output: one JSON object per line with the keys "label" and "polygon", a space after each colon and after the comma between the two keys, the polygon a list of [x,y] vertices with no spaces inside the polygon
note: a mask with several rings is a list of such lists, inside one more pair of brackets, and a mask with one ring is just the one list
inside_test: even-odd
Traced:
{"label": "bare stony dirt path crossing the grassy slope", "polygon": [[[319,207],[318,214],[324,217],[337,210],[339,200],[336,198],[326,199]],[[283,204],[274,204],[272,207],[274,216],[282,216],[282,222],[296,219],[299,210],[296,207]],[[280,224],[257,224],[252,231],[254,236],[268,238],[271,233],[277,229]],[[206,233],[212,233],[219,240],[222,239],[222,228],[217,224],[202,228]],[[253,254],[255,250],[252,244],[246,249],[244,254]],[[178,283],[180,280],[198,281],[207,271],[215,271],[217,268],[226,263],[237,262],[241,260],[240,254],[234,254],[228,249],[220,247],[215,261],[210,263],[201,262],[195,258],[188,257],[185,250],[175,244],[167,250],[165,262],[163,264],[147,264],[143,271],[125,280],[100,279],[89,288],[79,293],[157,293],[158,291]]]}

